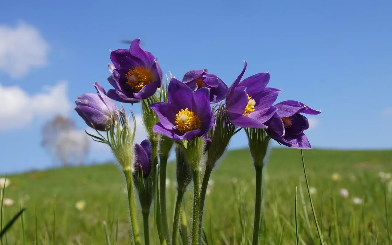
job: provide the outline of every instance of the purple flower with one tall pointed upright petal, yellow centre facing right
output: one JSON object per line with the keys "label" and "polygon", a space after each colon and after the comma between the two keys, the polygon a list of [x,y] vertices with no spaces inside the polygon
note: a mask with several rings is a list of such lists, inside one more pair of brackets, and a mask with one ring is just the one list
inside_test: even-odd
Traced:
{"label": "purple flower with one tall pointed upright petal, yellow centre facing right", "polygon": [[240,82],[247,62],[241,74],[230,86],[226,95],[227,115],[237,127],[267,128],[267,122],[278,110],[273,104],[279,89],[267,88],[269,73],[258,73]]}

